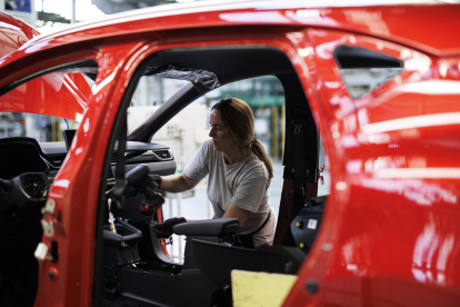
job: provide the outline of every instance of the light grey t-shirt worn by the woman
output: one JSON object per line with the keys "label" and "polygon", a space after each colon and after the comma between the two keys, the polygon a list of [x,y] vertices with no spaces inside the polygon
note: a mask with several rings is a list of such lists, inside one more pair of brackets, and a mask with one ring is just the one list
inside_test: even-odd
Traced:
{"label": "light grey t-shirt worn by the woman", "polygon": [[183,172],[193,180],[209,175],[208,197],[214,209],[213,218],[221,218],[230,202],[251,212],[238,234],[256,231],[271,210],[269,222],[253,235],[253,242],[259,246],[273,240],[277,217],[269,201],[270,178],[266,165],[256,155],[244,157],[237,165],[227,165],[223,154],[218,152],[208,140],[201,145]]}

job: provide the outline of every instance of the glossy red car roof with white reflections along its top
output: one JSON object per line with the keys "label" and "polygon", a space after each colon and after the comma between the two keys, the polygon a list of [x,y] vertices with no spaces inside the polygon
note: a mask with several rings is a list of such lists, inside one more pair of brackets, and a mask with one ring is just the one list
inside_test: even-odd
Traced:
{"label": "glossy red car roof with white reflections along its top", "polygon": [[[32,39],[32,46],[52,48],[77,41],[144,32],[218,26],[311,26],[372,34],[427,52],[460,53],[460,6],[442,1],[244,1],[174,3],[132,10],[99,21],[81,22]],[[436,22],[427,22],[427,20]],[[78,32],[78,36],[76,33]],[[52,43],[51,43],[52,42]],[[1,62],[0,62],[1,65]]]}

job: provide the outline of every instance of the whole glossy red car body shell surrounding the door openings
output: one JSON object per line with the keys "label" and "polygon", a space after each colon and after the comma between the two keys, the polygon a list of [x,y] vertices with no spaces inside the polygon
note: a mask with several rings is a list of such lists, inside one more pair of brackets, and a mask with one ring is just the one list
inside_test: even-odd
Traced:
{"label": "whole glossy red car body shell surrounding the door openings", "polygon": [[[99,65],[82,120],[89,129],[78,130],[49,194],[56,210],[44,219],[60,261],[40,263],[36,306],[91,304],[101,148],[138,65],[159,50],[233,44],[288,56],[331,165],[321,231],[283,306],[460,305],[459,17],[460,6],[434,2],[198,2],[81,23],[1,58],[0,88],[69,61]],[[339,44],[404,69],[353,99],[333,57]],[[318,291],[308,290],[312,280]]]}

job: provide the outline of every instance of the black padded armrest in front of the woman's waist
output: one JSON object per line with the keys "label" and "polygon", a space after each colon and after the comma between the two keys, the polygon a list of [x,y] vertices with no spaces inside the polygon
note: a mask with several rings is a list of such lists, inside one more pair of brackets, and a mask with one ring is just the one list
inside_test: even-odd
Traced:
{"label": "black padded armrest in front of the woman's waist", "polygon": [[221,237],[238,230],[238,218],[219,218],[196,220],[176,225],[172,230],[176,235]]}

